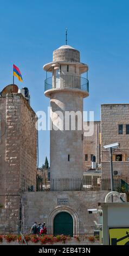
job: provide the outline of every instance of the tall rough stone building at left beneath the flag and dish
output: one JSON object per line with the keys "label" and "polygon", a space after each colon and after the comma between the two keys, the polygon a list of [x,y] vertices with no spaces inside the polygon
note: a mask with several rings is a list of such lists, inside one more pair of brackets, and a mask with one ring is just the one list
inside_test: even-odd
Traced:
{"label": "tall rough stone building at left beneath the flag and dish", "polygon": [[22,94],[0,97],[0,225],[18,224],[21,191],[36,188],[35,123],[35,112]]}

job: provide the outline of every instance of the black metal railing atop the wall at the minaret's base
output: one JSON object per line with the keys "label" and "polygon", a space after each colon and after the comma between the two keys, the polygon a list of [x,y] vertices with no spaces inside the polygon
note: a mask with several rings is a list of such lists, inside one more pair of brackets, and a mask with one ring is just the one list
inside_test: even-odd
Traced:
{"label": "black metal railing atop the wall at the minaret's base", "polygon": [[[37,175],[36,188],[33,181],[27,179],[22,191],[110,191],[111,179],[86,177],[84,179],[44,179]],[[114,179],[114,191],[128,192],[128,184],[121,179]]]}

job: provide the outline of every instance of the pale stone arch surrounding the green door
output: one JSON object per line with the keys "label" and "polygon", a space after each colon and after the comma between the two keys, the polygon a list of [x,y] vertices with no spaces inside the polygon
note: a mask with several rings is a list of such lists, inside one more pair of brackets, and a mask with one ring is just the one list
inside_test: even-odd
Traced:
{"label": "pale stone arch surrounding the green door", "polygon": [[68,206],[57,206],[50,214],[49,220],[48,220],[48,233],[53,234],[53,223],[54,218],[57,214],[60,212],[68,212],[73,217],[73,233],[79,234],[79,218],[76,212],[74,212],[73,209],[69,208]]}

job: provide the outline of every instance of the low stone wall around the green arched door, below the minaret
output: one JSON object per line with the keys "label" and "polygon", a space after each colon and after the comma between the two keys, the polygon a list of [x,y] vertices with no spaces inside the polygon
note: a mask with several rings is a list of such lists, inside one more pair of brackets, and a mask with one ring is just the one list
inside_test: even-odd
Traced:
{"label": "low stone wall around the green arched door, below the minaret", "polygon": [[[34,221],[46,222],[49,231],[53,233],[53,221],[57,213],[67,211],[74,220],[74,233],[83,231],[87,226],[94,226],[98,214],[88,214],[87,209],[97,208],[98,202],[104,202],[107,191],[66,191],[66,192],[24,192],[25,225],[31,226]],[[59,205],[58,198],[66,198],[67,203]]]}

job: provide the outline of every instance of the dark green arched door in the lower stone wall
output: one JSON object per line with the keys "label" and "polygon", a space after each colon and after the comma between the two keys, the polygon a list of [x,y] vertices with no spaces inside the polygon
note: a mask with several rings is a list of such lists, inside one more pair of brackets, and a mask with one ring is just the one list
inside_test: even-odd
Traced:
{"label": "dark green arched door in the lower stone wall", "polygon": [[73,236],[73,218],[68,212],[60,212],[54,218],[54,235]]}

